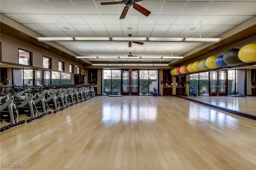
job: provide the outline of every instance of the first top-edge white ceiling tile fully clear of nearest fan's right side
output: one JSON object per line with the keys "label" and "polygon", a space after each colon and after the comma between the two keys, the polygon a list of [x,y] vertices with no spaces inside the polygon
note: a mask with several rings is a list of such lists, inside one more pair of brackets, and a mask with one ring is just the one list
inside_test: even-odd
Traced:
{"label": "first top-edge white ceiling tile fully clear of nearest fan's right side", "polygon": [[185,1],[165,1],[160,14],[178,15],[185,5]]}

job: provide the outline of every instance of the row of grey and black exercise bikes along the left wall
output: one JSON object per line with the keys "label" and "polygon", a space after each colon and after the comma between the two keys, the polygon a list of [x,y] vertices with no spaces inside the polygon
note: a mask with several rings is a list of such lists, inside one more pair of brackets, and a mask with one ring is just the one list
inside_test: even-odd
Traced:
{"label": "row of grey and black exercise bikes along the left wall", "polygon": [[0,132],[25,123],[18,121],[19,115],[26,115],[30,122],[50,113],[56,113],[71,105],[96,96],[95,84],[86,85],[43,85],[43,86],[3,86],[0,84],[0,122],[9,125],[1,127]]}

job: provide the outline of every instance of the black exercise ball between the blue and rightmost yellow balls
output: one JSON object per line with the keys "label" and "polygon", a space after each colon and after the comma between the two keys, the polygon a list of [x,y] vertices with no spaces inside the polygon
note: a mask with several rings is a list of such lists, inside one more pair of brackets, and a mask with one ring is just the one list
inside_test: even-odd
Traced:
{"label": "black exercise ball between the blue and rightmost yellow balls", "polygon": [[238,58],[238,51],[239,49],[230,49],[226,51],[222,58],[224,63],[231,65],[240,63],[241,61]]}

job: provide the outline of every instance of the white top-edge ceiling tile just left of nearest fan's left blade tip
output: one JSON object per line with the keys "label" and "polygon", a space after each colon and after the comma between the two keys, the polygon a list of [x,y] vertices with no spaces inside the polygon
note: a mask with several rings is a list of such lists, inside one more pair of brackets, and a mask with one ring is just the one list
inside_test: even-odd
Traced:
{"label": "white top-edge ceiling tile just left of nearest fan's left blade tip", "polygon": [[94,1],[72,0],[72,4],[80,14],[99,14]]}

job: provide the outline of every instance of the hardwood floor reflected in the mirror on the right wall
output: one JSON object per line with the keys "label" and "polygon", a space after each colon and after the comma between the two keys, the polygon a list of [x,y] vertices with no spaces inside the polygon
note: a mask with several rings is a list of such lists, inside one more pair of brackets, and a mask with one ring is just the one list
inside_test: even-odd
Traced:
{"label": "hardwood floor reflected in the mirror on the right wall", "polygon": [[198,100],[226,109],[240,111],[256,115],[256,97],[228,97],[228,96],[182,96],[192,100]]}

